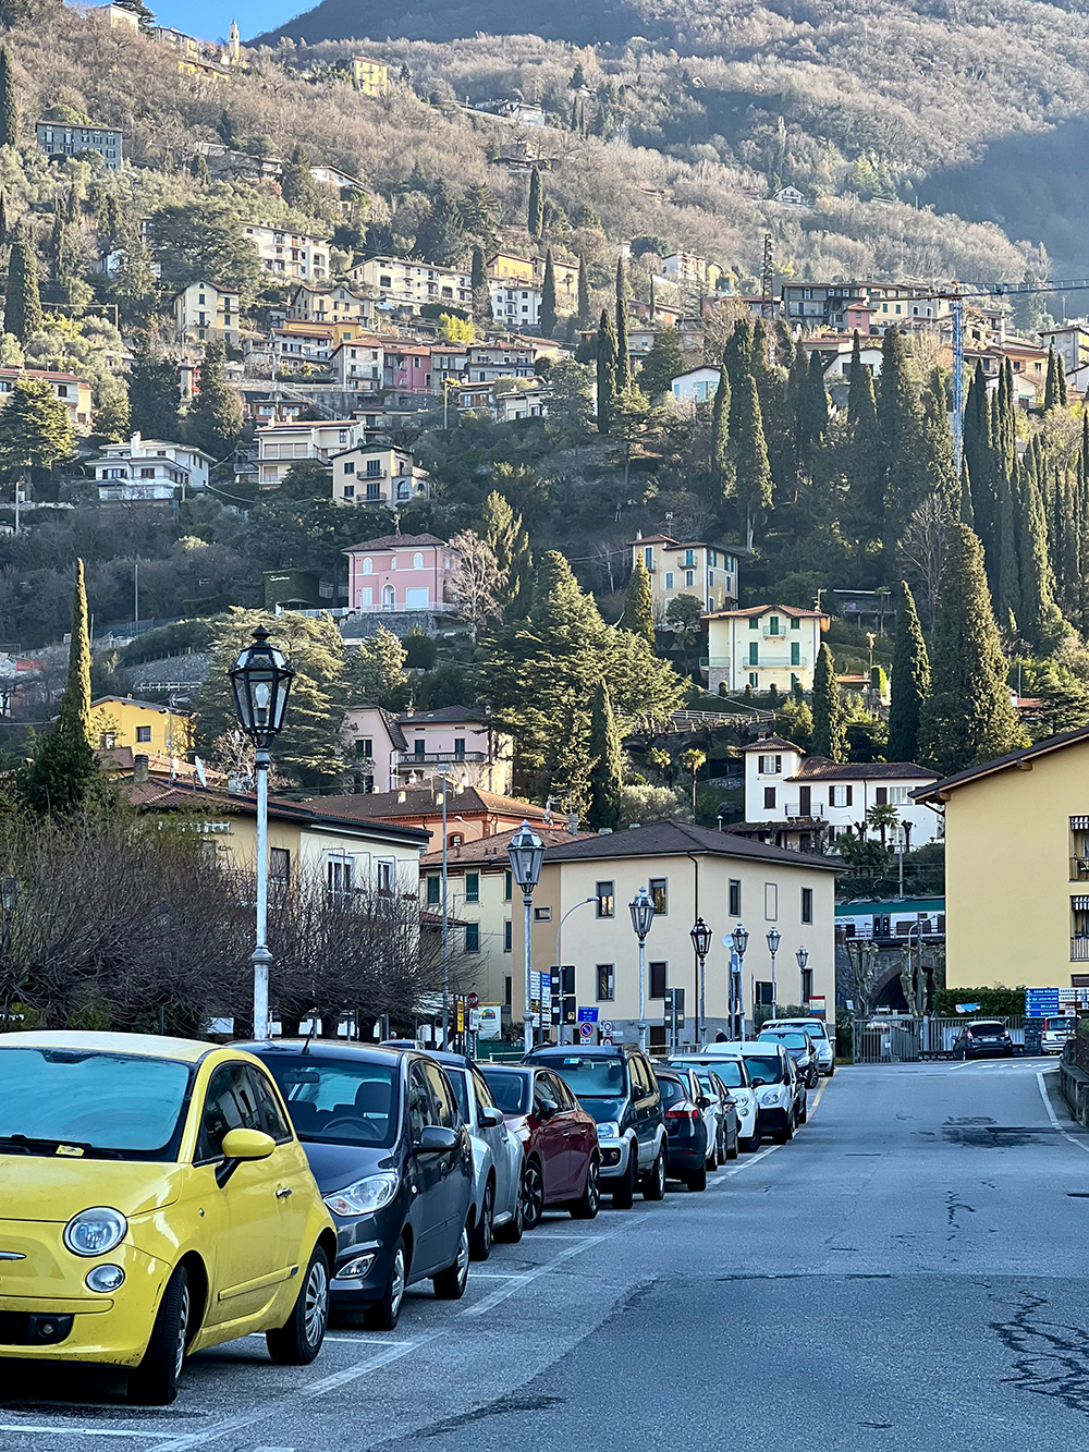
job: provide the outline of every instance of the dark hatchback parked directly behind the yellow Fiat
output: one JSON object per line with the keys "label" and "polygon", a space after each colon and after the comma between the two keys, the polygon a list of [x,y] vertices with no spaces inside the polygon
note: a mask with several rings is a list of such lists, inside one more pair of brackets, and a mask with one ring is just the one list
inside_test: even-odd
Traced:
{"label": "dark hatchback parked directly behind the yellow Fiat", "polygon": [[473,1157],[450,1082],[414,1050],[242,1044],[287,1101],[337,1223],[333,1305],[392,1330],[405,1288],[456,1301],[469,1275]]}

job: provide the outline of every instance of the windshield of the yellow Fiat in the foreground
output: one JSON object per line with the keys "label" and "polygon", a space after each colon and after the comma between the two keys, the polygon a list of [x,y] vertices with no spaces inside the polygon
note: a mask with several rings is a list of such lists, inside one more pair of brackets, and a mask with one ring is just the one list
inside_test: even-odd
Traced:
{"label": "windshield of the yellow Fiat in the foreground", "polygon": [[[173,1160],[192,1066],[78,1048],[0,1050],[0,1153],[15,1138],[122,1159]],[[32,1146],[38,1149],[39,1146]]]}

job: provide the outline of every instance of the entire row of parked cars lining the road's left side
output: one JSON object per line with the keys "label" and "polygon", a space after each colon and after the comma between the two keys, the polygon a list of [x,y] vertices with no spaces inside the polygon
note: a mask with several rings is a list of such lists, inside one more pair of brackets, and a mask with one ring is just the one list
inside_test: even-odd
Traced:
{"label": "entire row of parked cars lining the road's left side", "polygon": [[128,1368],[174,1398],[195,1350],[263,1331],[306,1363],[334,1313],[392,1330],[405,1291],[546,1210],[592,1220],[790,1140],[833,1073],[823,1024],[652,1061],[542,1045],[476,1063],[411,1041],[218,1047],[0,1035],[0,1358]]}

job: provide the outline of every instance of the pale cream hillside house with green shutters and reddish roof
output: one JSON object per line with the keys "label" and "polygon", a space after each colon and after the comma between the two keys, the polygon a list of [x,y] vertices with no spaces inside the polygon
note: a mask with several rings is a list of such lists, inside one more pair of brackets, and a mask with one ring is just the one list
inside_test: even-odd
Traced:
{"label": "pale cream hillside house with green shutters and reddish roof", "polygon": [[707,616],[707,690],[813,690],[820,635],[829,617],[794,605],[751,605]]}

